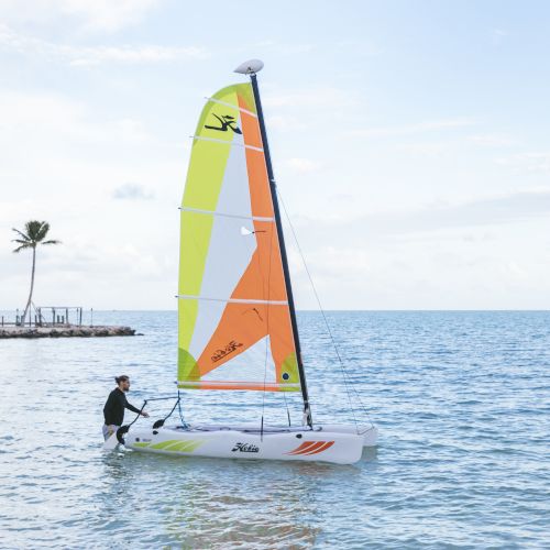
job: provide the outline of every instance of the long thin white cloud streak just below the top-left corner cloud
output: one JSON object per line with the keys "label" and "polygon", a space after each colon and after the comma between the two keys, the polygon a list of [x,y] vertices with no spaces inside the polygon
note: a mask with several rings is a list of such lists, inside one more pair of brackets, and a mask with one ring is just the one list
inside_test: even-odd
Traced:
{"label": "long thin white cloud streak just below the top-left corner cloud", "polygon": [[40,56],[48,61],[65,62],[75,66],[99,65],[102,63],[174,63],[202,59],[208,55],[204,48],[196,46],[74,46],[55,44],[22,35],[3,24],[0,24],[0,47],[22,55]]}

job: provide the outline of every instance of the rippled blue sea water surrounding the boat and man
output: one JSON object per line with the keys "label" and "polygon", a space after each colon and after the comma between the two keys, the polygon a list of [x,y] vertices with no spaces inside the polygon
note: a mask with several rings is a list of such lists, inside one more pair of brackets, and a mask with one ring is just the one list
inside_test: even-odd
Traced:
{"label": "rippled blue sea water surrounding the boat and man", "polygon": [[[343,371],[322,316],[298,315],[314,421],[376,424],[355,465],[103,452],[114,375],[136,406],[175,395],[175,312],[95,312],[135,338],[0,340],[0,547],[550,547],[550,314],[327,319]],[[287,407],[299,424],[299,394],[191,391],[183,413]]]}

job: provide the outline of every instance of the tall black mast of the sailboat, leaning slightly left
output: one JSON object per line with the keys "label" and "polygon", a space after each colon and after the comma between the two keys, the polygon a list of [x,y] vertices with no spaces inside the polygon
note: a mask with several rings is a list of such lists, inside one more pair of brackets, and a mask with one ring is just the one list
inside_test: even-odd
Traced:
{"label": "tall black mast of the sailboat, leaning slightly left", "polygon": [[265,131],[264,113],[262,110],[262,101],[260,100],[260,89],[257,87],[257,79],[255,73],[250,73],[252,80],[252,90],[254,91],[254,100],[256,102],[257,119],[260,121],[260,133],[262,134],[262,144],[264,146],[265,164],[267,166],[267,177],[270,178],[270,190],[273,200],[273,210],[275,212],[275,223],[277,227],[278,242],[280,246],[280,260],[283,263],[283,272],[285,274],[286,294],[288,297],[288,307],[290,309],[290,322],[293,326],[294,346],[296,349],[296,359],[298,362],[298,372],[300,374],[301,397],[304,398],[304,414],[309,427],[314,426],[311,419],[311,409],[309,407],[308,387],[306,383],[306,373],[304,371],[304,363],[301,362],[300,339],[298,337],[298,324],[296,322],[296,309],[294,308],[293,287],[290,285],[290,273],[288,271],[288,260],[286,257],[285,235],[283,234],[283,224],[280,223],[280,212],[277,200],[277,186],[275,184],[275,176],[273,175],[272,157],[270,155],[270,146],[267,145],[267,133]]}

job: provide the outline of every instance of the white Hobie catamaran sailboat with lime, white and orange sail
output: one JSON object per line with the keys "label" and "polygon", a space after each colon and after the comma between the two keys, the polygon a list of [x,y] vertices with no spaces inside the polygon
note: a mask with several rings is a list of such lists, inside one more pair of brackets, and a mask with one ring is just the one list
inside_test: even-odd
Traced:
{"label": "white Hobie catamaran sailboat with lime, white and orange sail", "polygon": [[264,426],[263,416],[218,426],[163,419],[152,428],[122,427],[112,443],[183,457],[353,463],[363,447],[376,444],[377,429],[314,424],[256,77],[262,68],[258,59],[240,65],[235,73],[250,81],[207,98],[193,136],[180,207],[177,405],[180,389],[301,392],[302,425]]}

